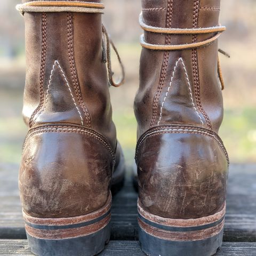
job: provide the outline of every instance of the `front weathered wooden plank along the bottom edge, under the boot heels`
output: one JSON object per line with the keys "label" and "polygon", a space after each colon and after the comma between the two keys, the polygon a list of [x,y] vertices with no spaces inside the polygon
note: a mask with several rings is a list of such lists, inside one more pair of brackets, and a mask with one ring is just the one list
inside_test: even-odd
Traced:
{"label": "front weathered wooden plank along the bottom edge, under the boot heels", "polygon": [[[33,256],[26,240],[0,240],[2,256]],[[144,256],[138,241],[110,241],[100,256]],[[223,243],[215,256],[255,256],[256,243]]]}

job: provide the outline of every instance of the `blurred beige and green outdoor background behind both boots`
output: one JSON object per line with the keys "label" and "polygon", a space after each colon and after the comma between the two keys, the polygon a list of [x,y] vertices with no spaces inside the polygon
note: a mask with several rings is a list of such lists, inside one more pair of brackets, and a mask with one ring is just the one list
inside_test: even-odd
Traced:
{"label": "blurred beige and green outdoor background behind both boots", "polygon": [[[1,0],[0,22],[0,167],[19,163],[27,127],[23,124],[22,93],[25,85],[24,25],[15,11],[19,0]],[[136,143],[133,99],[139,84],[141,46],[139,0],[105,0],[103,21],[116,42],[126,68],[126,82],[111,88],[114,121],[119,141],[131,164]],[[118,10],[118,11],[117,11]],[[225,117],[220,135],[231,162],[256,162],[256,1],[222,0],[221,23],[227,31],[219,46],[231,58],[221,58],[226,88]],[[115,57],[114,57],[115,58]],[[118,70],[116,60],[114,70]]]}

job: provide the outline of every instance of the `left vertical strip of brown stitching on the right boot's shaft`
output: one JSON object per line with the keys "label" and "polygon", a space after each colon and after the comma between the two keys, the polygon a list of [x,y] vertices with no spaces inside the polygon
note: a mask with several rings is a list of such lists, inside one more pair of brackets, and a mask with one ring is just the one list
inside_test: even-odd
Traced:
{"label": "left vertical strip of brown stitching on the right boot's shaft", "polygon": [[[170,28],[171,25],[172,25],[172,10],[173,10],[173,0],[168,0],[168,2],[167,2],[167,13],[166,13],[167,28]],[[171,35],[167,35],[165,37],[165,44],[171,44]],[[153,116],[152,116],[152,119],[151,119],[150,127],[153,127],[153,125],[156,121],[157,105],[158,105],[158,100],[159,100],[160,94],[161,94],[163,86],[164,86],[164,81],[165,81],[169,56],[170,56],[169,51],[164,53],[164,63],[163,63],[162,70],[161,70],[161,77],[160,77],[160,81],[159,81],[159,86],[157,88],[157,93],[156,93],[156,96],[154,98]]]}

